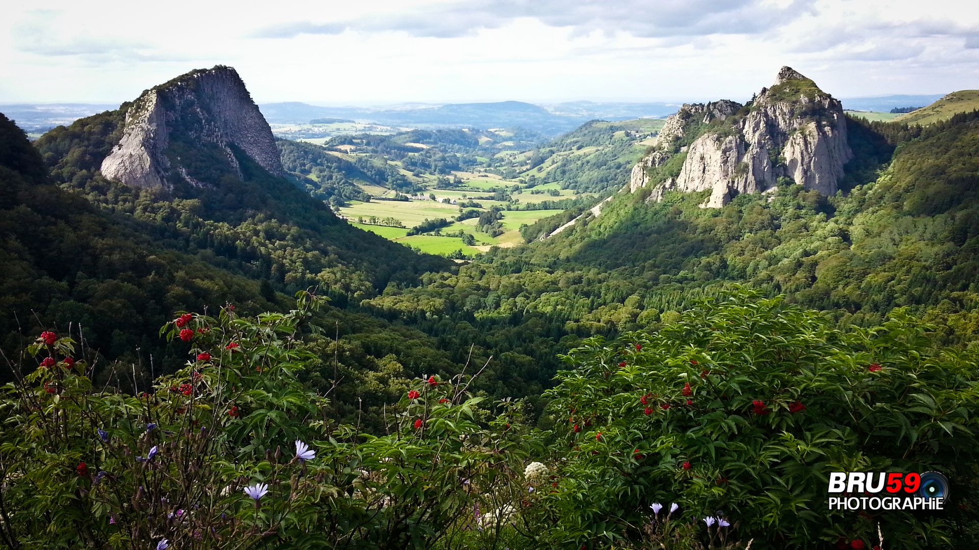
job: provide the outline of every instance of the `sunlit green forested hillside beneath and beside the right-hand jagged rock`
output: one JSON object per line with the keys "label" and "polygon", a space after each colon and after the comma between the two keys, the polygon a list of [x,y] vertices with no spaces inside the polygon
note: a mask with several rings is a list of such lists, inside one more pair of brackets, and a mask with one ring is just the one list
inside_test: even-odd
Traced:
{"label": "sunlit green forested hillside beneath and beside the right-hand jagged rock", "polygon": [[[979,115],[923,130],[849,125],[856,158],[847,192],[822,197],[783,185],[719,209],[699,207],[703,193],[650,203],[648,188],[621,192],[572,231],[461,267],[445,278],[448,301],[477,316],[538,311],[570,332],[608,334],[671,319],[693,299],[747,283],[826,310],[843,326],[879,323],[909,305],[946,325],[951,341],[973,341]],[[445,292],[372,301],[410,311],[419,297]]]}

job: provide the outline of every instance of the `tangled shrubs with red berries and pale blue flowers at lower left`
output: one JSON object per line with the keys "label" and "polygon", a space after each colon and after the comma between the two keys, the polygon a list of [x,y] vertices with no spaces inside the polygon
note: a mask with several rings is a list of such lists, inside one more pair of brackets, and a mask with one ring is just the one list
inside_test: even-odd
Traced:
{"label": "tangled shrubs with red berries and pale blue flowers at lower left", "polygon": [[74,342],[38,338],[37,367],[0,400],[2,545],[491,544],[506,518],[473,511],[519,478],[521,437],[488,422],[462,376],[419,380],[388,408],[386,435],[325,418],[326,398],[296,377],[317,361],[302,335],[318,301],[256,319],[181,314],[162,333],[186,367],[138,395],[92,388]]}

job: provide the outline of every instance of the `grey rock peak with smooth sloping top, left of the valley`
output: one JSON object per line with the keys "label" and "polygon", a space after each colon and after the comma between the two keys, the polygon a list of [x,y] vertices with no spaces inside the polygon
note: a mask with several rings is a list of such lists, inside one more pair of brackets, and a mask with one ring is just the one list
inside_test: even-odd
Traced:
{"label": "grey rock peak with smooth sloping top, left of the valley", "polygon": [[238,72],[198,69],[143,92],[126,113],[122,137],[102,161],[102,173],[137,187],[168,187],[174,177],[214,185],[195,178],[199,172],[185,161],[214,150],[241,177],[232,147],[268,172],[284,174],[271,128]]}

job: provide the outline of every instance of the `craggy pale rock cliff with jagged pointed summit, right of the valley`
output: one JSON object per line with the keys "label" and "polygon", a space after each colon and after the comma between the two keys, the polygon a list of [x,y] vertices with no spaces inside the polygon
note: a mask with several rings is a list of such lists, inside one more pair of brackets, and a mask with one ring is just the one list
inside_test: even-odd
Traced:
{"label": "craggy pale rock cliff with jagged pointed summit, right of the valley", "polygon": [[[693,132],[699,137],[689,141]],[[689,146],[677,147],[684,141]],[[656,149],[632,168],[630,190],[650,184],[651,172],[684,154],[678,172],[659,174],[650,200],[669,190],[710,190],[703,206],[720,207],[740,193],[772,189],[781,177],[833,195],[853,156],[840,102],[788,67],[747,106],[684,105],[668,119]]]}

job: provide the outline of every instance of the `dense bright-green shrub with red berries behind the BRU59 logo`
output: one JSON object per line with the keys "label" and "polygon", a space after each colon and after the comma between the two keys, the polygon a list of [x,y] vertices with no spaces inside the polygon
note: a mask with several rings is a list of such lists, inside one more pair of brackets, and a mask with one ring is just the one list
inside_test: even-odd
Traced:
{"label": "dense bright-green shrub with red berries behind the BRU59 logo", "polygon": [[[689,547],[708,545],[719,518],[741,547],[871,548],[878,527],[886,548],[970,543],[976,357],[933,348],[904,310],[840,331],[816,311],[742,292],[655,334],[592,338],[564,359],[573,370],[548,392],[564,426],[553,448],[560,490],[547,502],[555,542],[652,542],[662,522],[650,504],[676,502],[699,522]],[[946,512],[827,510],[830,472],[930,470],[953,484]]]}

